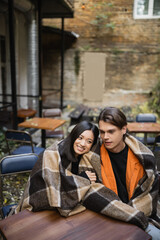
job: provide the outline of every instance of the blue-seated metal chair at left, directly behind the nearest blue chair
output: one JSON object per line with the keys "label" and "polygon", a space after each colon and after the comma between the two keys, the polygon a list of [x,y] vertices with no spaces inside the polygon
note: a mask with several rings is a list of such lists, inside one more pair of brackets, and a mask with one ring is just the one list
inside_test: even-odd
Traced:
{"label": "blue-seated metal chair at left, directly behind the nearest blue chair", "polygon": [[[44,148],[34,146],[32,136],[27,131],[8,129],[5,132],[8,153],[10,155],[18,155],[23,153],[36,153],[40,155],[44,152]],[[18,147],[15,144],[20,143]],[[14,150],[11,150],[14,146]]]}

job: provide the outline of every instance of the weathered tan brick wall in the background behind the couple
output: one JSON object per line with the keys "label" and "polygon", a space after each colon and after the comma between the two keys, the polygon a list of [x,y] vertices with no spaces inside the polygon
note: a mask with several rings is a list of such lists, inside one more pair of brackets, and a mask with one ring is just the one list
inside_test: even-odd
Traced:
{"label": "weathered tan brick wall in the background behind the couple", "polygon": [[[143,102],[146,100],[146,93],[151,91],[159,78],[160,20],[135,20],[134,1],[112,0],[110,2],[113,6],[106,8],[105,13],[109,14],[110,22],[114,22],[115,28],[110,30],[101,27],[104,22],[96,27],[93,24],[93,20],[99,15],[93,6],[96,2],[98,1],[84,0],[83,10],[82,1],[75,0],[74,18],[65,19],[65,30],[76,32],[80,36],[76,44],[65,52],[64,98],[68,102],[84,103],[84,53],[89,51],[106,55],[103,101],[89,104],[130,105]],[[47,19],[44,25],[61,27],[61,21]],[[75,74],[74,61],[77,50],[80,56],[78,76]],[[57,85],[59,73],[54,71],[55,66],[58,66],[58,63],[52,61],[44,71],[44,79],[52,76],[52,81]],[[124,92],[127,101],[124,99]]]}

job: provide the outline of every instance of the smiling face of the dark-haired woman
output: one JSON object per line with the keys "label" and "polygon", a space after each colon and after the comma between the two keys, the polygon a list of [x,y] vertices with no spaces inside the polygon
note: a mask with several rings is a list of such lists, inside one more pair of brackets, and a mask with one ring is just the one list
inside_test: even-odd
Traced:
{"label": "smiling face of the dark-haired woman", "polygon": [[91,130],[86,130],[75,140],[73,149],[76,155],[82,155],[90,151],[94,142],[94,135]]}

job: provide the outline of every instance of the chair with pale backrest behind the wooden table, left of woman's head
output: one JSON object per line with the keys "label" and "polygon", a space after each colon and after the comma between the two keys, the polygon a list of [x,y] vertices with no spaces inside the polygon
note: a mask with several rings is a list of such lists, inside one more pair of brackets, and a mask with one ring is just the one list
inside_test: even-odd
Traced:
{"label": "chair with pale backrest behind the wooden table, left of woman's head", "polygon": [[[51,108],[51,109],[44,109],[43,110],[43,117],[44,118],[57,118],[61,117],[62,111],[59,108]],[[62,129],[46,130],[46,138],[64,138],[64,131]]]}

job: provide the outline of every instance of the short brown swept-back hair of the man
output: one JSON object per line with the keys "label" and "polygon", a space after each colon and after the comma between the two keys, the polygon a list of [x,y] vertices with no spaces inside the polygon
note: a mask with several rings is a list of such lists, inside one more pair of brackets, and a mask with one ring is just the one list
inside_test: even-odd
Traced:
{"label": "short brown swept-back hair of the man", "polygon": [[110,124],[117,126],[122,129],[127,125],[127,119],[123,112],[116,107],[106,107],[104,108],[99,115],[99,121],[104,121]]}

